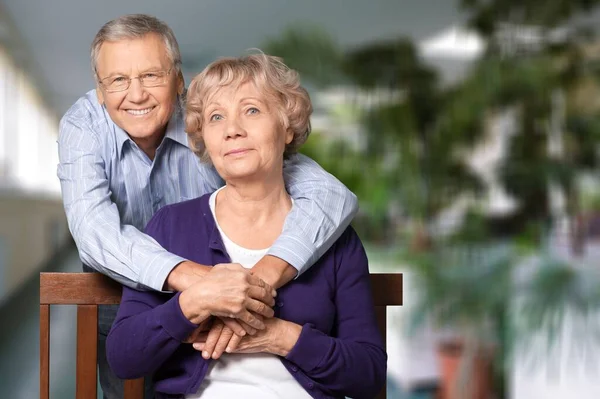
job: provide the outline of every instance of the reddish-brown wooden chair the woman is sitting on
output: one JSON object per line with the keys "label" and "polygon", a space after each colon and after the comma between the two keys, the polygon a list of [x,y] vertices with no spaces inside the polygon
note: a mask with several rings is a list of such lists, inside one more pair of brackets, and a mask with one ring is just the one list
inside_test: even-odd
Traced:
{"label": "reddish-brown wooden chair the woman is sitting on", "polygon": [[[372,274],[377,321],[385,339],[386,306],[402,305],[402,275]],[[99,273],[40,273],[40,398],[50,393],[50,305],[77,305],[77,399],[96,398],[98,305],[121,300],[121,286]],[[143,379],[125,383],[125,399],[142,399]],[[378,396],[385,398],[385,389]]]}

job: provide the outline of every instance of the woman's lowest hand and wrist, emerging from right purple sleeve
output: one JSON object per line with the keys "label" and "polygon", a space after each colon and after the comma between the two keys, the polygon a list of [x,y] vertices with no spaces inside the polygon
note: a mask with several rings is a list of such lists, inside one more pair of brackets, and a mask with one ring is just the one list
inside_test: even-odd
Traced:
{"label": "woman's lowest hand and wrist, emerging from right purple sleeve", "polygon": [[[241,338],[237,349],[226,350],[226,352],[272,353],[278,356],[287,356],[296,345],[302,332],[302,326],[275,317],[265,319],[264,324],[264,330],[260,330],[254,335],[245,335]],[[200,334],[194,343],[194,348],[203,351],[206,347],[207,337],[206,333]]]}

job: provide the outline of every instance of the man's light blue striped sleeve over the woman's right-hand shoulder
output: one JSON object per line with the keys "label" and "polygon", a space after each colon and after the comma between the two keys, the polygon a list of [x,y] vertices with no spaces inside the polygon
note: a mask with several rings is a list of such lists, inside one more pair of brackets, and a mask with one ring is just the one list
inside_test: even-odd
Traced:
{"label": "man's light blue striped sleeve over the woman's right-hand shoulder", "polygon": [[300,275],[350,225],[358,201],[339,180],[302,154],[287,160],[283,173],[294,206],[268,254],[285,260]]}

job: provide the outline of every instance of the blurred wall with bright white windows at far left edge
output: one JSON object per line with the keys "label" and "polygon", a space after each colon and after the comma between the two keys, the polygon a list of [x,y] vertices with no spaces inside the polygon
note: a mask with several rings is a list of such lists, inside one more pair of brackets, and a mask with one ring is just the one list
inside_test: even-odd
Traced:
{"label": "blurred wall with bright white windows at far left edge", "polygon": [[68,237],[56,178],[58,118],[0,18],[0,304]]}

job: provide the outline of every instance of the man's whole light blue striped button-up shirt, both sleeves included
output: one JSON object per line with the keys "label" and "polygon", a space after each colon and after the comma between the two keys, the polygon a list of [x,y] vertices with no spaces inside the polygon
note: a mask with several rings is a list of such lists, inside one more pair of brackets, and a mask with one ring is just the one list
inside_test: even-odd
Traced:
{"label": "man's whole light blue striped button-up shirt, both sleeves included", "polygon": [[[188,147],[183,129],[176,112],[151,160],[110,119],[95,90],[63,116],[58,177],[69,229],[86,265],[132,288],[162,290],[171,270],[185,260],[142,232],[163,206],[223,185],[216,170]],[[303,155],[285,162],[284,179],[294,205],[269,254],[300,274],[339,238],[358,205],[354,194]]]}

